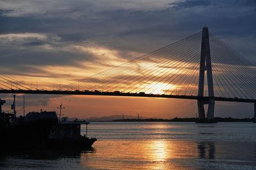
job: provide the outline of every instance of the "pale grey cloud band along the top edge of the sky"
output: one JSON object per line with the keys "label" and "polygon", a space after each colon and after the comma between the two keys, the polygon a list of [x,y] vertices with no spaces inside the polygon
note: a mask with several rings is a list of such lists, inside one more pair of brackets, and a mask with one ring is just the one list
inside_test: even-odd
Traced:
{"label": "pale grey cloud band along the top edge of the sky", "polygon": [[[172,1],[171,1],[172,2]],[[2,15],[7,17],[21,17],[29,15],[44,15],[44,17],[82,17],[89,12],[112,11],[112,10],[156,10],[163,9],[170,3],[170,0],[159,0],[157,2],[150,0],[73,0],[73,1],[51,1],[45,0],[38,5],[37,1],[1,1]],[[68,15],[67,15],[68,13]],[[94,17],[95,18],[95,17]]]}

